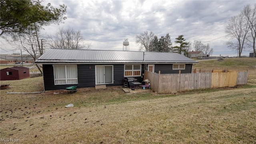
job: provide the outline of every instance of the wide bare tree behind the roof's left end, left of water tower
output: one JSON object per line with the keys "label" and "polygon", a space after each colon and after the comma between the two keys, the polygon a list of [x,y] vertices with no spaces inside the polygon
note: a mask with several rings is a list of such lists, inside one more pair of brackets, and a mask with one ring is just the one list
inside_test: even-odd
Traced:
{"label": "wide bare tree behind the roof's left end, left of water tower", "polygon": [[90,49],[91,44],[84,43],[80,30],[60,28],[53,35],[48,36],[50,47],[62,49]]}

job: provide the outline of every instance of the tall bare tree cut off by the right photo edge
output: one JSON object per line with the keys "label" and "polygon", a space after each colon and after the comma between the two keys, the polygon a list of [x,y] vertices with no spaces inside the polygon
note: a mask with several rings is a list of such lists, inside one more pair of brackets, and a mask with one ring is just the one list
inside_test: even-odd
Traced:
{"label": "tall bare tree cut off by the right photo edge", "polygon": [[249,23],[249,29],[251,32],[251,38],[248,38],[248,41],[252,44],[253,49],[253,57],[256,57],[255,51],[255,38],[256,38],[256,4],[254,7],[251,8],[250,4],[246,5],[242,10],[242,14],[244,15],[245,19]]}

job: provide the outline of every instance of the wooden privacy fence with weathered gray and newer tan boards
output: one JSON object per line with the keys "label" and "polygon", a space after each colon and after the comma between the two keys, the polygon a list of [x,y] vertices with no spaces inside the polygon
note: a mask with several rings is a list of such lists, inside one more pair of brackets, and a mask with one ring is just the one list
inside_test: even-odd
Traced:
{"label": "wooden privacy fence with weathered gray and newer tan boards", "polygon": [[150,87],[155,92],[167,93],[247,84],[248,72],[215,70],[192,74],[156,74],[145,71],[145,78],[150,80]]}

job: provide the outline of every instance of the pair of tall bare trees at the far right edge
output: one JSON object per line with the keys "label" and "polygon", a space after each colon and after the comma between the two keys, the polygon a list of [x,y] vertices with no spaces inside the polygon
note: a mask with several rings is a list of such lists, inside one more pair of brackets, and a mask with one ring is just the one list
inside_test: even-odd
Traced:
{"label": "pair of tall bare trees at the far right edge", "polygon": [[225,28],[228,34],[227,46],[238,53],[238,57],[244,50],[253,50],[253,57],[256,57],[255,38],[256,38],[256,4],[244,6],[241,12],[228,19]]}

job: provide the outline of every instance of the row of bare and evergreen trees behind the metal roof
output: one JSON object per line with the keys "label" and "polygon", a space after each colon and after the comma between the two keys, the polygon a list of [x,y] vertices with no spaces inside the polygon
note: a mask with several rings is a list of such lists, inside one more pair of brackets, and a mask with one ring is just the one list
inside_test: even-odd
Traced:
{"label": "row of bare and evergreen trees behind the metal roof", "polygon": [[172,46],[169,33],[158,38],[153,32],[145,31],[136,35],[136,43],[140,45],[140,51],[146,52],[177,52],[188,56],[188,52],[192,49],[192,46],[195,51],[202,51],[204,54],[212,54],[213,52],[213,48],[210,48],[210,44],[203,44],[198,40],[194,40],[192,44],[192,42],[186,41],[184,35],[175,38],[174,43],[177,44],[177,46]]}

